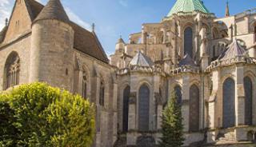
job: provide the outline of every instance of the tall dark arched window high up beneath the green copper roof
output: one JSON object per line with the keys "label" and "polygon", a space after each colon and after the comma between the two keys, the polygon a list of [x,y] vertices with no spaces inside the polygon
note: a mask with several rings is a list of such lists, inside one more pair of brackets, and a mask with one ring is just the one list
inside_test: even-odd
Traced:
{"label": "tall dark arched window high up beneath the green copper roof", "polygon": [[193,58],[193,30],[187,27],[184,31],[184,55],[189,54]]}

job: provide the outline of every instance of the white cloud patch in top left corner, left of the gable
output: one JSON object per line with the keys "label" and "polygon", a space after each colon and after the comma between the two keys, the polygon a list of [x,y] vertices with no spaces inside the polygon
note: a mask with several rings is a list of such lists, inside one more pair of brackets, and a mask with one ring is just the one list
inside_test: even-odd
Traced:
{"label": "white cloud patch in top left corner, left of the gable", "polygon": [[10,18],[11,0],[0,0],[0,30],[5,26],[6,18]]}

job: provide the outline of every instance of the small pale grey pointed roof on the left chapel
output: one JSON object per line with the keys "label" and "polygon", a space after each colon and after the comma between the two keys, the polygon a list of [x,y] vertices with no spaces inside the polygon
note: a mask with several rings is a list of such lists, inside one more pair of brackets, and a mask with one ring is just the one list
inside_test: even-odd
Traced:
{"label": "small pale grey pointed roof on the left chapel", "polygon": [[142,54],[141,51],[138,51],[138,54],[136,54],[134,58],[130,61],[130,65],[150,67],[154,66],[154,63],[151,61],[149,57],[147,57],[145,54]]}

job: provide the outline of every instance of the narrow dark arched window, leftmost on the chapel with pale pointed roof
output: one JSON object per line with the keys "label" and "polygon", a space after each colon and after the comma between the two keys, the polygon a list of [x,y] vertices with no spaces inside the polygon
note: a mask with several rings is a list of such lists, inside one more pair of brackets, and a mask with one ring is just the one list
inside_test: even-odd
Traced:
{"label": "narrow dark arched window, leftmost on the chapel with pale pointed roof", "polygon": [[123,103],[122,103],[122,131],[126,133],[128,131],[128,117],[129,117],[129,98],[130,98],[130,86],[126,86],[123,90]]}

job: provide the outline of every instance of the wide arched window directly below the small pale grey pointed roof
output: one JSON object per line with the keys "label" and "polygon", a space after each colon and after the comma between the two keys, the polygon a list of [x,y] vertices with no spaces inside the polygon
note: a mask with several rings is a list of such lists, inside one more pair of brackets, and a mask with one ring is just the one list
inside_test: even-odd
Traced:
{"label": "wide arched window directly below the small pale grey pointed roof", "polygon": [[138,129],[148,131],[150,125],[150,89],[142,85],[138,92]]}

